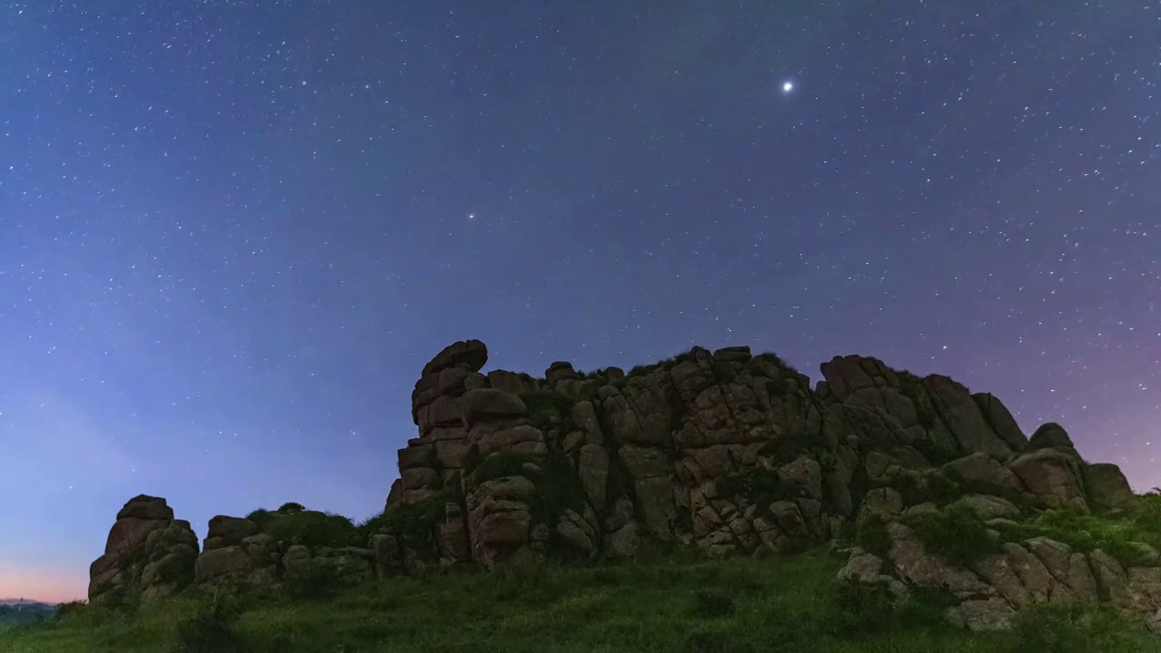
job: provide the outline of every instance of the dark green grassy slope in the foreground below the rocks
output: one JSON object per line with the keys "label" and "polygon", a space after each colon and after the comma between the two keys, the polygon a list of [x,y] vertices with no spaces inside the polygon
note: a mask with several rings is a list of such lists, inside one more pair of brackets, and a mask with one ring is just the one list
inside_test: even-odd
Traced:
{"label": "dark green grassy slope in the foreground below the rocks", "polygon": [[[1047,613],[1016,632],[969,634],[939,623],[931,609],[887,618],[875,605],[843,609],[834,598],[839,566],[805,554],[456,572],[329,600],[258,604],[237,632],[241,651],[303,653],[1161,651],[1161,639],[1108,618],[1084,630],[1082,619]],[[132,617],[86,609],[5,632],[0,651],[174,651],[176,624],[197,605],[188,596]],[[1061,645],[1048,647],[1052,638]]]}

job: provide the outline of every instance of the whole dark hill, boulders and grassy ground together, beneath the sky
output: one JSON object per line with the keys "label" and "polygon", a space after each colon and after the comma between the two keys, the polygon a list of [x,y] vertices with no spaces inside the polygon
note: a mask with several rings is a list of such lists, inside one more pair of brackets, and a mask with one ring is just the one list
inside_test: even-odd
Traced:
{"label": "whole dark hill, boulders and grassy ground together, beneath the sky", "polygon": [[[542,378],[481,373],[486,360],[468,340],[424,367],[418,437],[398,452],[383,515],[356,526],[288,503],[217,516],[199,543],[164,498],[135,497],[93,562],[92,605],[50,630],[131,650],[219,629],[240,602],[252,608],[237,633],[253,650],[300,633],[284,650],[449,651],[462,631],[477,648],[459,650],[829,638],[828,650],[871,651],[886,637],[890,650],[937,638],[982,651],[1041,624],[1101,651],[1161,641],[1146,634],[1161,632],[1161,495],[1135,496],[1059,424],[1025,436],[990,394],[854,356],[824,363],[812,388],[748,347],[628,373],[554,363]],[[779,584],[796,575],[808,587]],[[215,611],[183,620],[207,602]],[[757,625],[794,610],[809,615]],[[454,627],[401,625],[446,615]],[[578,620],[619,634],[570,634]],[[28,637],[50,646],[48,631]]]}

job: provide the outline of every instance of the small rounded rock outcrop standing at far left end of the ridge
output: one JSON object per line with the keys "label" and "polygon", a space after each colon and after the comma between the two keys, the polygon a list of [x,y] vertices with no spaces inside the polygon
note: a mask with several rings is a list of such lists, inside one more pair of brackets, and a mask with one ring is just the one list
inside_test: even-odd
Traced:
{"label": "small rounded rock outcrop standing at far left end of the ridge", "polygon": [[164,498],[139,495],[117,512],[104,554],[89,567],[92,603],[152,601],[194,582],[197,536]]}

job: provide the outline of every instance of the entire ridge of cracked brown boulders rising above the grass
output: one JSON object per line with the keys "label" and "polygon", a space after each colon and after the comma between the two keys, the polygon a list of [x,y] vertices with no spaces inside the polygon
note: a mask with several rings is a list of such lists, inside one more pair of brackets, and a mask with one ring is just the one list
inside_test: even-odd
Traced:
{"label": "entire ridge of cracked brown boulders rising above the grass", "polygon": [[269,589],[310,565],[389,582],[657,547],[829,546],[849,559],[839,581],[938,594],[971,629],[1079,601],[1161,630],[1161,554],[1125,538],[1080,541],[1062,522],[1132,509],[1117,466],[1087,462],[1059,424],[1027,437],[998,397],[947,376],[846,356],[822,364],[812,388],[744,346],[693,347],[627,373],[561,361],[536,378],[484,373],[486,361],[484,343],[466,340],[424,366],[411,395],[418,437],[398,452],[365,545],[312,546],[279,525],[302,516],[280,510],[215,517],[199,554],[188,524],[143,496],[93,564],[91,598],[239,577]]}

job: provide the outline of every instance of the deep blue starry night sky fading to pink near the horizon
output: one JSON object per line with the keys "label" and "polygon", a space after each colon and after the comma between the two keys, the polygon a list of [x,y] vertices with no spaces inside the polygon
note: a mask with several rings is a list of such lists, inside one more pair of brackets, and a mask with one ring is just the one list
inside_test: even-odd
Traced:
{"label": "deep blue starry night sky fading to pink near the horizon", "polygon": [[0,0],[0,596],[140,493],[382,510],[464,338],[877,356],[1161,485],[1161,5]]}

